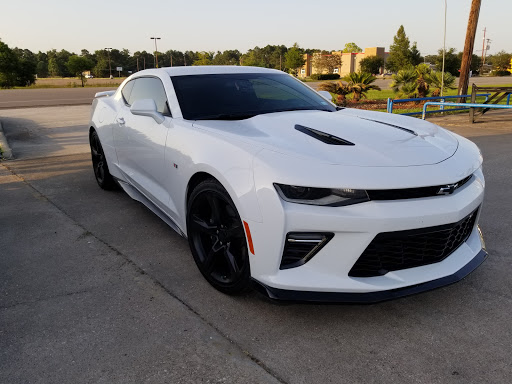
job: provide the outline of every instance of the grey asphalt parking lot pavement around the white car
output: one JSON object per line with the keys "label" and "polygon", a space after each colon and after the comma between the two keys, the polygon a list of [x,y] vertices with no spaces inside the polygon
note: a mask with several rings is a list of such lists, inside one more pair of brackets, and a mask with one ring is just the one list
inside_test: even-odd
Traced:
{"label": "grey asphalt parking lot pavement around the white car", "polygon": [[2,383],[508,383],[512,116],[430,119],[475,141],[490,257],[465,280],[377,305],[225,296],[186,240],[94,180],[88,106],[4,109]]}

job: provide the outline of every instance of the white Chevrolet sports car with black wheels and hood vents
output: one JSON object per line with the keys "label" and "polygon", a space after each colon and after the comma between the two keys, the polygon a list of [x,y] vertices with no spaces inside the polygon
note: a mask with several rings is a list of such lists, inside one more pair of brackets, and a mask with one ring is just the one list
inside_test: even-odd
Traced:
{"label": "white Chevrolet sports car with black wheels and hood vents", "polygon": [[487,257],[475,144],[336,108],[276,70],[144,70],[92,106],[100,187],[120,184],[225,293],[375,302],[456,282]]}

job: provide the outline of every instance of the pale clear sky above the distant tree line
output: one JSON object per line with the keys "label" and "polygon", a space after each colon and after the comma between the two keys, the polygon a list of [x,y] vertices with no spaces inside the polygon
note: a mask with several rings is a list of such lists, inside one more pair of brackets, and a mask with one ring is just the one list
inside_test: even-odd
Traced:
{"label": "pale clear sky above the distant tree line", "polygon": [[[446,47],[462,51],[471,0],[446,0]],[[0,0],[0,39],[33,52],[80,53],[105,47],[242,53],[267,44],[325,50],[355,42],[385,47],[403,25],[422,55],[443,46],[445,0]],[[512,52],[512,1],[482,0],[474,53],[483,29],[488,54]]]}

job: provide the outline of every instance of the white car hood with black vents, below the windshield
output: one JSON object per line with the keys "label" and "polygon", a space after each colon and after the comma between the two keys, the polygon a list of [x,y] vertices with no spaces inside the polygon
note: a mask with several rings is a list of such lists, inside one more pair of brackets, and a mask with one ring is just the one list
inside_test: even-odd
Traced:
{"label": "white car hood with black vents, below the windshield", "polygon": [[[436,164],[453,156],[458,147],[455,136],[426,121],[349,108],[269,113],[236,121],[204,120],[194,126],[290,156],[363,167]],[[354,145],[327,144],[314,131],[306,134],[301,127]]]}

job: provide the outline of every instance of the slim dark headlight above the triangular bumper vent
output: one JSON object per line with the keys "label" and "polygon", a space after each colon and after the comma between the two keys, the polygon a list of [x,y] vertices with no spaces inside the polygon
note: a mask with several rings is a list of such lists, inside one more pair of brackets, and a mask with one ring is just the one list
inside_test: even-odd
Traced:
{"label": "slim dark headlight above the triangular bumper vent", "polygon": [[274,186],[279,196],[290,203],[340,207],[370,201],[362,189],[312,188],[277,183]]}

